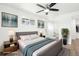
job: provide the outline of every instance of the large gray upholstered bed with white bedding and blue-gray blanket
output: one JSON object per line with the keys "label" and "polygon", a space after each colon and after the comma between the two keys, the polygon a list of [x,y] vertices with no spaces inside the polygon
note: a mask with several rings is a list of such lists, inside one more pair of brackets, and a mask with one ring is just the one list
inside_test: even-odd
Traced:
{"label": "large gray upholstered bed with white bedding and blue-gray blanket", "polygon": [[[48,38],[39,37],[39,36],[34,38],[33,36],[37,34],[38,34],[37,31],[16,32],[16,37],[19,43],[19,49],[24,56],[56,56],[60,53],[60,51],[62,50],[62,40],[51,41],[51,40],[48,40]],[[21,38],[21,36],[29,36],[30,38],[23,40],[24,38]],[[30,48],[27,49],[27,47],[30,47]],[[34,48],[35,49],[37,48],[37,49],[34,50]],[[28,52],[27,55],[24,54],[26,53],[26,51]]]}

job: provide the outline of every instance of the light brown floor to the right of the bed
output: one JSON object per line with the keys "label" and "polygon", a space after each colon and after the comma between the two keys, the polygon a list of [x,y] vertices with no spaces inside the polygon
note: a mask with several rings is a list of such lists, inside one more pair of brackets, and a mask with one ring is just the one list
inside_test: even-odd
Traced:
{"label": "light brown floor to the right of the bed", "polygon": [[59,56],[79,56],[79,39],[73,40],[71,45],[64,45],[62,51]]}

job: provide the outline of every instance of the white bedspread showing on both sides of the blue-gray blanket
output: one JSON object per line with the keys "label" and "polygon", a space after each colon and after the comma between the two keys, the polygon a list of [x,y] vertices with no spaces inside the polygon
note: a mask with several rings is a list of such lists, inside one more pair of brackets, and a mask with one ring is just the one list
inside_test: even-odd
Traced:
{"label": "white bedspread showing on both sides of the blue-gray blanket", "polygon": [[[35,43],[35,42],[38,42],[38,41],[41,41],[41,40],[44,40],[43,37],[39,37],[39,38],[36,38],[36,39],[32,39],[32,40],[18,40],[19,42],[19,46],[20,46],[20,49],[24,49],[25,46],[29,45],[29,44],[32,44],[32,43]],[[42,48],[36,50],[34,53],[33,53],[33,56],[37,56],[38,53],[44,51],[45,49],[49,48],[51,45],[53,45],[54,43],[56,43],[56,41],[53,41],[45,46],[43,46]]]}

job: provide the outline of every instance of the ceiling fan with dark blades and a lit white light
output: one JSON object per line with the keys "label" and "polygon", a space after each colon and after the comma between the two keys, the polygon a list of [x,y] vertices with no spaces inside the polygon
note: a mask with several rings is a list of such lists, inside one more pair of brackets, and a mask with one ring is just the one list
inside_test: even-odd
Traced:
{"label": "ceiling fan with dark blades and a lit white light", "polygon": [[37,6],[43,8],[43,10],[40,10],[36,13],[39,13],[39,12],[46,12],[45,14],[48,15],[48,12],[49,11],[59,11],[59,9],[56,9],[56,8],[52,8],[54,5],[56,5],[56,3],[51,3],[51,4],[47,4],[46,6],[43,6],[43,5],[40,5],[40,4],[37,4]]}

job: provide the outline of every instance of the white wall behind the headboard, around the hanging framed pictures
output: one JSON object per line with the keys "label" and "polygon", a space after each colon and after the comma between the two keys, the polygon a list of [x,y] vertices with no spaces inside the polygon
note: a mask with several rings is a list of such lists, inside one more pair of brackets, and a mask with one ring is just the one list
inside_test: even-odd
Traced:
{"label": "white wall behind the headboard, around the hanging framed pictures", "polygon": [[[9,28],[9,27],[1,27],[1,12],[7,12],[7,13],[11,13],[14,15],[18,16],[18,27],[17,28]],[[25,12],[22,10],[19,10],[17,8],[13,8],[10,6],[5,6],[3,4],[0,4],[0,50],[3,49],[3,42],[9,40],[9,30],[12,29],[15,32],[16,31],[40,31],[42,30],[43,32],[45,32],[45,28],[44,29],[39,29],[37,28],[37,21],[35,22],[35,25],[22,25],[22,18],[28,18],[28,19],[33,19],[33,20],[46,20],[45,18],[35,15],[33,13],[30,12]]]}

